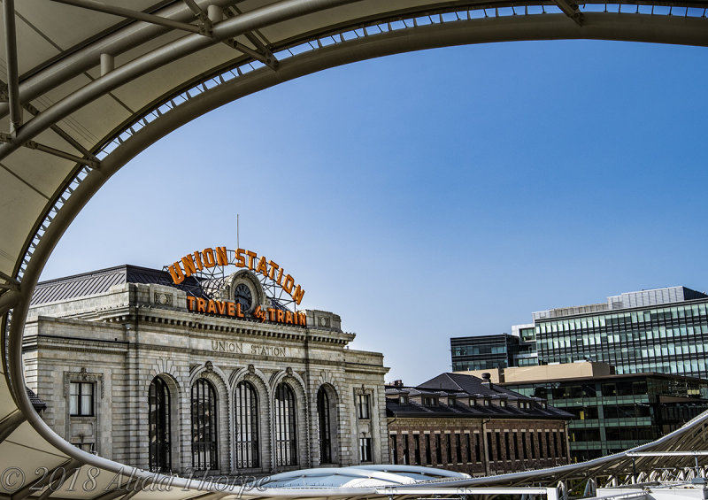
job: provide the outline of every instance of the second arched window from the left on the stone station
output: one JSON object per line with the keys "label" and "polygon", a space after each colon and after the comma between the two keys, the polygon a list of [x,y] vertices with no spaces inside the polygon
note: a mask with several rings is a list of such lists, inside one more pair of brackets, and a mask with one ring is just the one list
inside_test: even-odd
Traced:
{"label": "second arched window from the left on the stone station", "polygon": [[211,470],[217,460],[216,390],[210,381],[199,379],[192,386],[192,467]]}

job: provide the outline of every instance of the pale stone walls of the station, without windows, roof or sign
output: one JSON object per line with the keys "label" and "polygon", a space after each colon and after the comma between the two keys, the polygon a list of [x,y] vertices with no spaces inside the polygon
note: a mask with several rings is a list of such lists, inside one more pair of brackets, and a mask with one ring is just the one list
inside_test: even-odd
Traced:
{"label": "pale stone walls of the station, without windows, roof or sign", "polygon": [[[379,353],[350,350],[353,334],[331,312],[306,311],[307,326],[189,312],[177,288],[122,283],[107,292],[36,304],[24,341],[27,386],[47,404],[42,418],[82,449],[150,468],[150,384],[169,391],[170,472],[193,472],[192,408],[196,381],[216,393],[216,463],[213,474],[266,474],[323,465],[318,391],[327,393],[331,460],[358,465],[361,439],[370,440],[368,463],[388,463],[384,374]],[[236,465],[235,390],[255,388],[258,466]],[[296,460],[276,465],[274,391],[285,382],[295,396]],[[81,385],[84,384],[84,385]],[[91,414],[70,411],[70,391],[90,391]],[[366,394],[371,413],[358,418],[355,401]],[[88,396],[86,396],[88,397]],[[88,399],[86,399],[88,401]]]}

